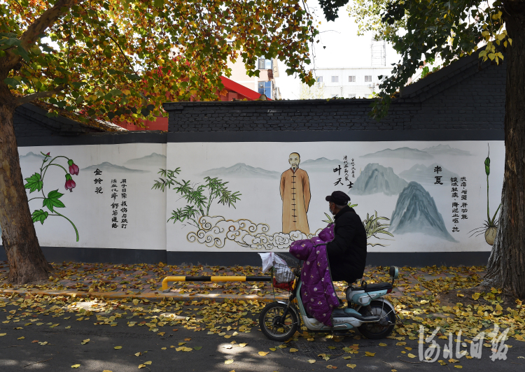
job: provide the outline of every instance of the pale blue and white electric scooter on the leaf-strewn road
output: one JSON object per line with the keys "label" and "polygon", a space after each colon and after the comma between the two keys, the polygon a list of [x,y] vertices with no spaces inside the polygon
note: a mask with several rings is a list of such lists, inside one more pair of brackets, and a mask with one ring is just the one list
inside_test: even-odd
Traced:
{"label": "pale blue and white electric scooter on the leaf-strewn road", "polygon": [[293,269],[295,279],[288,301],[269,303],[259,316],[260,330],[273,341],[286,341],[292,337],[300,322],[309,331],[344,332],[357,328],[366,338],[379,339],[389,336],[395,324],[400,322],[395,308],[386,299],[385,294],[392,292],[393,283],[398,278],[399,269],[391,266],[389,274],[392,282],[367,284],[359,287],[350,285],[346,289],[346,308],[336,308],[332,313],[332,327],[318,322],[305,310],[301,301],[300,266]]}

